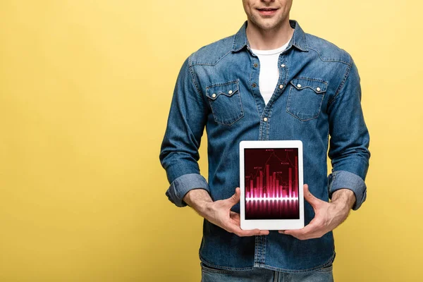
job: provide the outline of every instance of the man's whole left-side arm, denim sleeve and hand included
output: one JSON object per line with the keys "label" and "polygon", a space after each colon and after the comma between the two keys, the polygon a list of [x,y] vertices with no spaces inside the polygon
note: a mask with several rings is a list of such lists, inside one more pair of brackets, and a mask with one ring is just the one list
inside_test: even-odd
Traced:
{"label": "man's whole left-side arm, denim sleeve and hand included", "polygon": [[231,212],[231,207],[240,200],[239,188],[226,200],[214,202],[209,195],[209,185],[201,176],[197,162],[208,107],[197,85],[197,77],[187,59],[176,81],[159,155],[170,183],[166,195],[177,207],[188,204],[204,219],[228,232],[239,236],[266,235],[269,231],[240,228],[239,214]]}

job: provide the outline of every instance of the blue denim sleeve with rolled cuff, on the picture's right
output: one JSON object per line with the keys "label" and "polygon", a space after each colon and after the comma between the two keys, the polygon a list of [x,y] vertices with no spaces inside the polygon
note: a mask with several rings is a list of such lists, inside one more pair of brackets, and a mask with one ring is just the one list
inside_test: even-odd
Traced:
{"label": "blue denim sleeve with rolled cuff, on the picture's right", "polygon": [[329,197],[339,189],[350,189],[355,194],[354,210],[367,197],[364,180],[369,168],[369,131],[361,106],[360,75],[353,59],[347,68],[335,97],[329,102]]}

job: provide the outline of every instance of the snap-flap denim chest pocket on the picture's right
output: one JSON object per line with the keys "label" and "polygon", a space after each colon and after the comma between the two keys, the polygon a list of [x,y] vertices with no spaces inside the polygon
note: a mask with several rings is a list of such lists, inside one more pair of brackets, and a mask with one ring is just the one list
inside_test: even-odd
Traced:
{"label": "snap-flap denim chest pocket on the picture's right", "polygon": [[290,81],[286,112],[300,121],[317,118],[327,86],[328,83],[323,80],[294,78]]}

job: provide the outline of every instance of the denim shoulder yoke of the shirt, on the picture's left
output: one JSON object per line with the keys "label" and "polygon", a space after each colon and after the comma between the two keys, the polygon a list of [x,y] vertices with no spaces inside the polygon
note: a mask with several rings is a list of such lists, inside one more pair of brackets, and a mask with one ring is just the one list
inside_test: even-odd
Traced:
{"label": "denim shoulder yoke of the shirt, on the picture's left", "polygon": [[235,35],[231,35],[201,47],[191,54],[189,58],[190,66],[216,65],[216,63],[232,51],[234,38]]}

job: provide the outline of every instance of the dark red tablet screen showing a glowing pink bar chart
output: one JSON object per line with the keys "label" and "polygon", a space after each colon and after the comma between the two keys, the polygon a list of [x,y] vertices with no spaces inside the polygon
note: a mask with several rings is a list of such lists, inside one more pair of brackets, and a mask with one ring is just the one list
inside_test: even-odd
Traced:
{"label": "dark red tablet screen showing a glowing pink bar chart", "polygon": [[244,151],[245,219],[300,219],[298,149]]}

